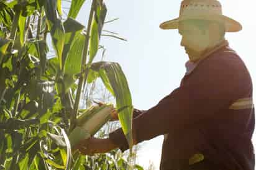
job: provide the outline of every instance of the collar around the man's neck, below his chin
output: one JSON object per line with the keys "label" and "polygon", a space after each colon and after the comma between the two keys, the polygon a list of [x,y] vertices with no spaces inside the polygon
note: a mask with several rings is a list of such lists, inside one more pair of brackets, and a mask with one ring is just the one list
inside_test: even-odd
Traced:
{"label": "collar around the man's neck, below his chin", "polygon": [[200,61],[204,60],[205,58],[207,58],[209,55],[211,55],[215,51],[217,51],[227,45],[229,45],[229,42],[227,42],[227,40],[222,40],[221,42],[217,43],[217,45],[215,45],[213,48],[211,48],[211,50],[206,51],[206,53],[204,53],[204,55],[200,58],[200,60],[198,60],[196,62],[192,62],[190,60],[186,61],[186,63],[185,63],[186,75],[190,74],[194,70],[194,68],[196,68],[196,66],[198,65],[198,63]]}

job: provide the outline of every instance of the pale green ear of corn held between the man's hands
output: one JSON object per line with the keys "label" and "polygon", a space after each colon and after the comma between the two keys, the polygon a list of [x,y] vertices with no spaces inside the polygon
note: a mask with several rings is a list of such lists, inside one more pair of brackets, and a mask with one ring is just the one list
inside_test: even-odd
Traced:
{"label": "pale green ear of corn held between the man's hands", "polygon": [[91,107],[77,118],[76,127],[69,135],[71,147],[77,145],[81,140],[93,136],[101,127],[111,119],[112,104]]}

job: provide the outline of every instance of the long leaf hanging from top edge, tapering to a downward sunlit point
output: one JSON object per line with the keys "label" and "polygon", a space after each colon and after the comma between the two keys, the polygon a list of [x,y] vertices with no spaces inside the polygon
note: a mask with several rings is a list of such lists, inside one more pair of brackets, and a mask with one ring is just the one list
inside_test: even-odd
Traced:
{"label": "long leaf hanging from top edge, tapering to a downward sunlit point", "polygon": [[65,43],[65,34],[62,20],[57,15],[56,1],[45,0],[45,15],[47,17],[48,28],[52,37],[53,47],[60,61],[60,69],[63,68],[62,51]]}

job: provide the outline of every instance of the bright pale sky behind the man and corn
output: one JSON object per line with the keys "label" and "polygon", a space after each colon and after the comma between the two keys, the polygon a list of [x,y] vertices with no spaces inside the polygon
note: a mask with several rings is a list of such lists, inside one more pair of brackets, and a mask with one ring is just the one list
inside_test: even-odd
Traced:
{"label": "bright pale sky behind the man and corn", "polygon": [[[179,86],[185,74],[188,60],[185,50],[180,47],[181,37],[177,30],[161,30],[159,24],[178,17],[180,0],[162,1],[106,1],[107,19],[119,20],[106,24],[105,30],[117,32],[127,42],[102,37],[100,44],[107,48],[106,60],[117,61],[122,66],[129,82],[132,101],[137,109],[150,109],[173,89]],[[227,33],[229,45],[244,60],[256,84],[255,42],[256,1],[220,1],[223,13],[238,20],[243,30]],[[88,7],[86,1],[78,20],[86,25]],[[255,87],[255,86],[254,86]],[[255,93],[254,93],[255,96]],[[139,151],[137,163],[148,167],[149,160],[159,167],[163,137],[145,141]]]}

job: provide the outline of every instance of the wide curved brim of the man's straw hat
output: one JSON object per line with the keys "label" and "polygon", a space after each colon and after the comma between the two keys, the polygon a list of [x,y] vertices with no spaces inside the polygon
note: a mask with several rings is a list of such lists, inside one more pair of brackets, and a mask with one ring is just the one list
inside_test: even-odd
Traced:
{"label": "wide curved brim of the man's straw hat", "polygon": [[211,16],[182,16],[176,19],[167,20],[160,24],[161,29],[178,29],[178,23],[182,20],[191,20],[191,19],[199,19],[199,20],[216,20],[224,23],[226,32],[238,32],[242,30],[242,25],[234,19],[231,19],[227,16],[223,15],[211,15]]}

